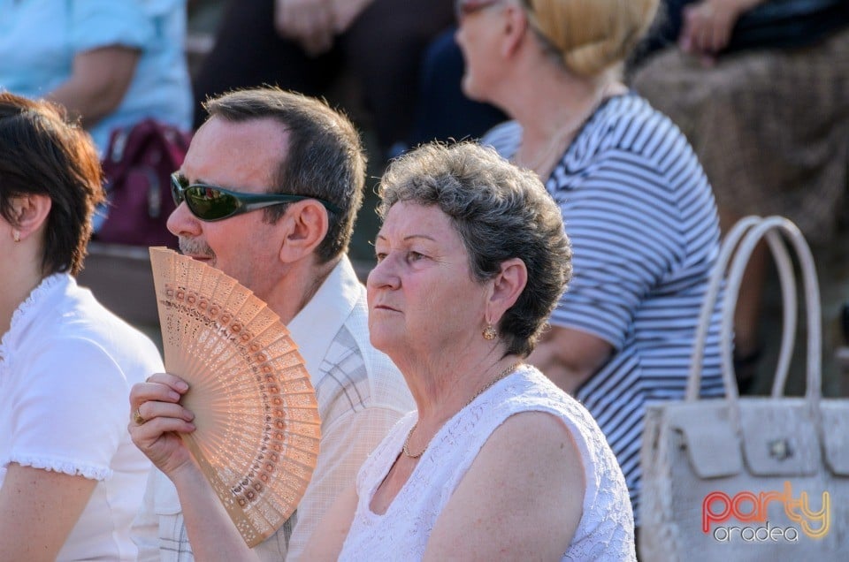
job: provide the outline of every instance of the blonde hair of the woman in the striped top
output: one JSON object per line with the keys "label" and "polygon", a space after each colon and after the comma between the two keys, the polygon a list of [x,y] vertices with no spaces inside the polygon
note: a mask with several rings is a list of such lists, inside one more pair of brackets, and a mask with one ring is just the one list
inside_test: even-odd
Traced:
{"label": "blonde hair of the woman in the striped top", "polygon": [[593,77],[631,55],[658,0],[520,0],[532,27],[570,72]]}

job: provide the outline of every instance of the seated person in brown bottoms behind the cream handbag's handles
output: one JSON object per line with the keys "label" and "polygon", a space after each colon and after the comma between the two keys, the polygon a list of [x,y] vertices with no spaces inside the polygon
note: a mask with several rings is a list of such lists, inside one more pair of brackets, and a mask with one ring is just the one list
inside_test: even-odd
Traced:
{"label": "seated person in brown bottoms behind the cream handbag's handles", "polygon": [[[746,215],[780,215],[828,247],[849,185],[849,3],[807,3],[807,15],[771,22],[758,16],[792,4],[806,3],[671,3],[670,15],[682,22],[676,41],[639,65],[632,82],[692,143],[723,232]],[[747,31],[753,17],[761,26]],[[742,391],[753,386],[767,346],[761,317],[769,267],[761,245],[735,308]]]}

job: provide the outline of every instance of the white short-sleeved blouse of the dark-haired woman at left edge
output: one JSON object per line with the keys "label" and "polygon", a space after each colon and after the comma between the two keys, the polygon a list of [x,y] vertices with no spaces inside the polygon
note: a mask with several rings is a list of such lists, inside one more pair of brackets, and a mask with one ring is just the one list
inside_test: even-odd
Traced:
{"label": "white short-sleeved blouse of the dark-haired woman at left edge", "polygon": [[150,463],[129,393],[164,370],[153,342],[73,277],[45,278],[0,340],[0,487],[10,463],[96,480],[57,560],[134,560],[130,523]]}

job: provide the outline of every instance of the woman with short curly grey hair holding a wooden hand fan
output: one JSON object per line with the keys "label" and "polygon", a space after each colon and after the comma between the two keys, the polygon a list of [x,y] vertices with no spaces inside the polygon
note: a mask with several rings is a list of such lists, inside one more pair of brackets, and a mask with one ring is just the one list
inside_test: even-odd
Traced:
{"label": "woman with short curly grey hair holding a wooden hand fan", "polygon": [[[425,145],[384,176],[369,330],[416,399],[317,528],[304,559],[633,560],[622,471],[593,418],[524,365],[570,277],[537,178],[474,144]],[[134,387],[134,440],[180,490],[208,558],[256,559],[172,432],[180,379]],[[149,445],[148,445],[149,444]]]}

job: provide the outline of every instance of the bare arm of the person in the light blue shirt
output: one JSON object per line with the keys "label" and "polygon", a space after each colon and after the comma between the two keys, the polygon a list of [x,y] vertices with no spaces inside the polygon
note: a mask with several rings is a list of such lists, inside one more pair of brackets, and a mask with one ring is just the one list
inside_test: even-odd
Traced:
{"label": "bare arm of the person in the light blue shirt", "polygon": [[86,127],[118,109],[133,81],[141,51],[119,45],[91,49],[73,57],[71,77],[46,97],[61,103]]}

